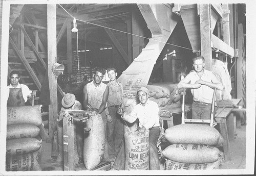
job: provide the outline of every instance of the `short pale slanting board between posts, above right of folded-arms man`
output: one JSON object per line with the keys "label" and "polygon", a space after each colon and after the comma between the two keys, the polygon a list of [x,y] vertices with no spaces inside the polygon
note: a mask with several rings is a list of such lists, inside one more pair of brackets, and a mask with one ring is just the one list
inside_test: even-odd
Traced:
{"label": "short pale slanting board between posts, above right of folded-arms man", "polygon": [[220,49],[221,52],[234,57],[234,49],[215,35],[211,35],[212,47]]}

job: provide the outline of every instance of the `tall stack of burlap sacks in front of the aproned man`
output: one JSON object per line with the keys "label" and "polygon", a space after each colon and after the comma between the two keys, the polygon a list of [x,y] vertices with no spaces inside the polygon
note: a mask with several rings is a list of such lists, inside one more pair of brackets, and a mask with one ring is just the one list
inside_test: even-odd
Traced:
{"label": "tall stack of burlap sacks in front of the aproned man", "polygon": [[41,170],[41,105],[7,108],[6,171]]}

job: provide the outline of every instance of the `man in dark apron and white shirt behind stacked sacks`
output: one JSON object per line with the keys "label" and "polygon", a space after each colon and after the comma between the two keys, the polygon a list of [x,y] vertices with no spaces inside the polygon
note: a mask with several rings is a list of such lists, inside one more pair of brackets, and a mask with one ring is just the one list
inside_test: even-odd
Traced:
{"label": "man in dark apron and white shirt behind stacked sacks", "polygon": [[7,94],[9,95],[7,100],[7,107],[13,106],[25,106],[28,98],[32,95],[36,95],[35,91],[29,90],[25,84],[19,84],[20,75],[18,71],[12,71],[10,73],[11,84],[8,86]]}

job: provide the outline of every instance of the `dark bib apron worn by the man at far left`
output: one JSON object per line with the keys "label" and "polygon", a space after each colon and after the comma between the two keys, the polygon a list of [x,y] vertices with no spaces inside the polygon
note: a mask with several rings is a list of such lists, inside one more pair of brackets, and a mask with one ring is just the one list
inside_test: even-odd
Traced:
{"label": "dark bib apron worn by the man at far left", "polygon": [[25,106],[25,100],[22,94],[22,88],[10,89],[7,107]]}

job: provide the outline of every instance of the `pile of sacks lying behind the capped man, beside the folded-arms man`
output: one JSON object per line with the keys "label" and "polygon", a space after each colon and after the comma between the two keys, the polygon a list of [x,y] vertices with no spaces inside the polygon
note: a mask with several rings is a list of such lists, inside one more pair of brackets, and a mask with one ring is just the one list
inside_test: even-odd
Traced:
{"label": "pile of sacks lying behind the capped man, beside the folded-arms man", "polygon": [[183,95],[182,89],[178,89],[177,84],[173,83],[155,83],[147,85],[147,89],[150,100],[156,102],[161,109],[177,103]]}

